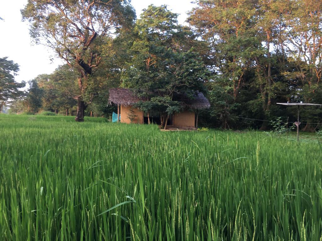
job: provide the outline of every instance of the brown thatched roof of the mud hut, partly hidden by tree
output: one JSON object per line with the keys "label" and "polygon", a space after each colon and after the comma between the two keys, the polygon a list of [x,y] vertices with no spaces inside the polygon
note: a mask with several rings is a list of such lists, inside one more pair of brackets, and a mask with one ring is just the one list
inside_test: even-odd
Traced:
{"label": "brown thatched roof of the mud hut, partly hidden by tree", "polygon": [[[183,95],[176,96],[177,100],[181,100],[185,104],[185,108],[191,109],[206,109],[210,107],[210,103],[204,94],[196,92],[194,98],[187,98]],[[115,88],[109,89],[109,103],[121,104],[121,105],[132,105],[140,101],[131,89]]]}

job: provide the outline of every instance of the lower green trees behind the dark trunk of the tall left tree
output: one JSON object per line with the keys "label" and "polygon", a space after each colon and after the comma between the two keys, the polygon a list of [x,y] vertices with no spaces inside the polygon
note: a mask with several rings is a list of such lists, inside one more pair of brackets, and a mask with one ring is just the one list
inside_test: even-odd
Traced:
{"label": "lower green trees behind the dark trunk of the tall left tree", "polygon": [[[38,109],[56,114],[75,115],[77,107],[75,96],[78,93],[78,73],[76,71],[68,65],[62,65],[52,74],[39,75],[34,81],[41,90],[37,98],[40,104]],[[108,89],[117,86],[115,82],[117,80],[106,80],[105,73],[102,71],[97,71],[89,77],[88,86],[83,94],[83,99],[89,106],[86,111],[87,115],[90,115],[92,111],[96,117],[108,116],[113,111],[107,101]],[[30,99],[30,95],[28,98]],[[22,103],[18,101],[14,103],[12,111],[22,112],[21,104],[24,106],[22,109],[27,110],[28,98],[22,98]]]}

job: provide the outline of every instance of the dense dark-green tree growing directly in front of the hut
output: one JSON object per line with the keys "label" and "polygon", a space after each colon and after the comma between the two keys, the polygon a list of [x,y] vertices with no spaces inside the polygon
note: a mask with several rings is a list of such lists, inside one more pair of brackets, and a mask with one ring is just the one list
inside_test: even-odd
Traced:
{"label": "dense dark-green tree growing directly in front of the hut", "polygon": [[191,48],[192,32],[177,23],[177,14],[165,5],[150,5],[141,14],[135,27],[131,48],[133,58],[128,63],[123,85],[133,88],[148,102],[138,103],[147,112],[158,109],[166,117],[183,108],[179,95],[194,97],[204,90],[207,70],[199,53]]}

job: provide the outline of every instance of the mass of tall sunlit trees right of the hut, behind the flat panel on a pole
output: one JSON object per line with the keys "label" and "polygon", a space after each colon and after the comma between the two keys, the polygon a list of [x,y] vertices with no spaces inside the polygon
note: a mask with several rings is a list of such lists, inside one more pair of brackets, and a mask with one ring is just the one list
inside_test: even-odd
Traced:
{"label": "mass of tall sunlit trees right of the hut, behind the flat panel on a pole", "polygon": [[[278,102],[322,103],[321,6],[307,0],[197,1],[188,21],[208,45],[201,52],[213,74],[207,88],[215,126],[265,130],[267,120],[281,115],[295,121],[292,110],[276,108]],[[318,123],[322,112],[303,116]]]}

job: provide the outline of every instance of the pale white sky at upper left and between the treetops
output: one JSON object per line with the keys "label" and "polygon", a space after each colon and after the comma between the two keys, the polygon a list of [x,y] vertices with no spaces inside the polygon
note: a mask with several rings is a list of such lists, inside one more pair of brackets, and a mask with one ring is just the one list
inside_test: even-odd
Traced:
{"label": "pale white sky at upper left and between the treetops", "polygon": [[[45,46],[34,45],[29,36],[28,25],[21,21],[20,9],[24,8],[27,0],[3,1],[0,8],[0,58],[7,56],[10,60],[20,65],[19,75],[16,80],[29,81],[40,74],[52,73],[62,60]],[[166,4],[168,9],[179,13],[178,22],[184,24],[186,12],[191,10],[194,4],[191,0],[132,0],[132,6],[137,12],[137,17],[142,9],[150,4],[156,6]]]}

